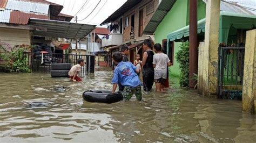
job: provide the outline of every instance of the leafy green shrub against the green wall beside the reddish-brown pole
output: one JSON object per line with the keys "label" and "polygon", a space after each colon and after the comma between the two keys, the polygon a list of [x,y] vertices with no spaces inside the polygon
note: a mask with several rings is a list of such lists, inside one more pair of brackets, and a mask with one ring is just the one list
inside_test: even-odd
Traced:
{"label": "leafy green shrub against the green wall beside the reddish-brown pole", "polygon": [[190,53],[189,53],[189,42],[182,42],[179,46],[180,50],[177,52],[177,62],[180,68],[180,86],[189,87],[190,82]]}

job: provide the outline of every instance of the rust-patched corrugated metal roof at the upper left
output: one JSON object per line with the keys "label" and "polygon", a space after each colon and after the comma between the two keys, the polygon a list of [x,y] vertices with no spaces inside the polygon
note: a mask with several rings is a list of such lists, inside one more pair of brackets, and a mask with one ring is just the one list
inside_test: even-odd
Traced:
{"label": "rust-patched corrugated metal roof at the upper left", "polygon": [[63,9],[62,5],[45,0],[1,0],[0,23],[26,25],[29,18],[49,19],[49,9],[52,12],[52,19],[70,22],[73,18],[59,13]]}

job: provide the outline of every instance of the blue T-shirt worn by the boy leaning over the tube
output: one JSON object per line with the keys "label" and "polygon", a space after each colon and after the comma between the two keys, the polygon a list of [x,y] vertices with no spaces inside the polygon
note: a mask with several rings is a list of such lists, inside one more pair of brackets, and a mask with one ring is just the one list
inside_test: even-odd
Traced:
{"label": "blue T-shirt worn by the boy leaning over the tube", "polygon": [[132,65],[131,62],[120,62],[117,67],[114,69],[114,76],[112,83],[117,83],[118,81],[124,87],[138,87],[142,85],[139,80],[139,76],[136,74],[136,67]]}

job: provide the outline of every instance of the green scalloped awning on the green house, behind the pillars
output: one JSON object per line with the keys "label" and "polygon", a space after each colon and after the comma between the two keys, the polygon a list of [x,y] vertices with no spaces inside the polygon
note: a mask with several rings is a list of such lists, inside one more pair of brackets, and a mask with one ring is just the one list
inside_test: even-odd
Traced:
{"label": "green scalloped awning on the green house, behind the pillars", "polygon": [[[227,43],[228,33],[231,26],[239,29],[251,29],[256,26],[256,16],[221,11],[219,42]],[[198,34],[205,32],[205,18],[198,21],[197,32]],[[185,37],[189,37],[189,35],[190,31],[188,25],[180,28],[177,31],[167,34],[167,39],[169,41],[176,41]]]}

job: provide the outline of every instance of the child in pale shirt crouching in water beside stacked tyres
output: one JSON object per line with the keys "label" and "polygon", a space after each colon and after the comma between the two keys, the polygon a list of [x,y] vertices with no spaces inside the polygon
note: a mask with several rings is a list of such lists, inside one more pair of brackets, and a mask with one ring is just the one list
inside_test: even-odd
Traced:
{"label": "child in pale shirt crouching in water beside stacked tyres", "polygon": [[77,65],[73,66],[69,70],[69,77],[71,81],[82,81],[82,79],[78,76],[78,73],[81,71],[81,67],[84,66],[84,60],[78,59]]}

